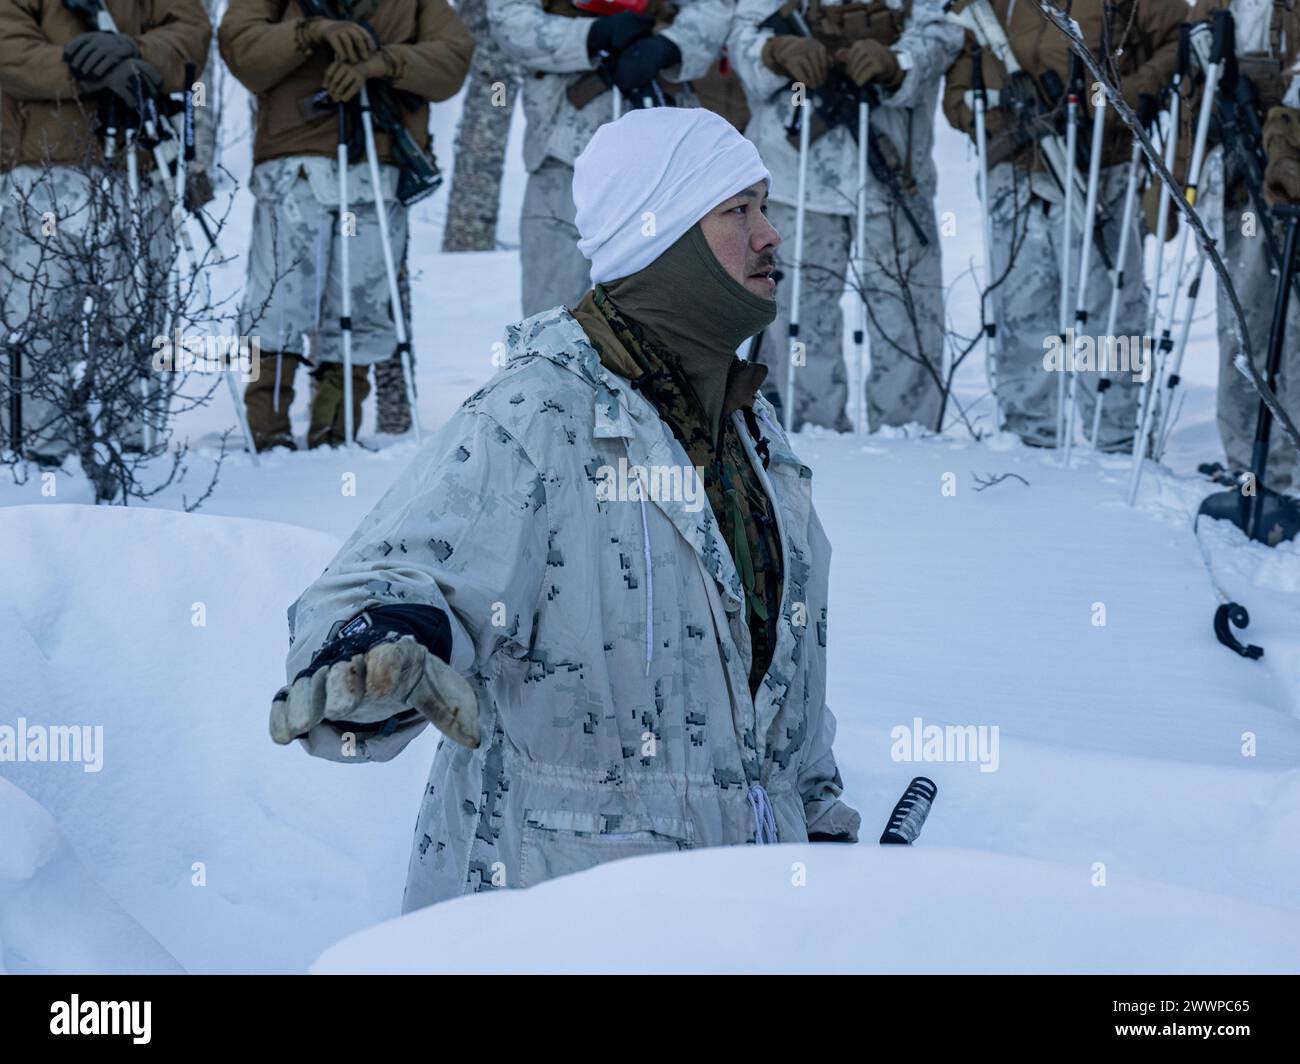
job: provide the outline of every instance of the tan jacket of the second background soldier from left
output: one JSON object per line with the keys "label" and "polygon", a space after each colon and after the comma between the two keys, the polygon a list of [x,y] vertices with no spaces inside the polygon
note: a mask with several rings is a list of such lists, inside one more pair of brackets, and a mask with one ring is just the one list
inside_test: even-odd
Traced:
{"label": "tan jacket of the second background soldier from left", "polygon": [[[333,61],[329,48],[312,51],[302,35],[295,0],[230,0],[217,40],[230,72],[257,95],[254,163],[286,155],[338,151],[338,122],[332,111],[308,120],[299,103],[320,90]],[[403,109],[406,127],[420,147],[429,146],[428,101],[455,95],[469,72],[473,38],[447,0],[381,0],[369,20],[396,75],[394,88],[421,100]],[[380,157],[391,163],[389,138],[376,131]]]}

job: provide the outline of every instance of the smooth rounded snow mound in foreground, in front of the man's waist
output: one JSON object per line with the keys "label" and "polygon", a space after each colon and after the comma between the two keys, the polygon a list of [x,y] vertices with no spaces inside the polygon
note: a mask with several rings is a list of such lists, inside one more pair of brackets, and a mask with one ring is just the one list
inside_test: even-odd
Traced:
{"label": "smooth rounded snow mound in foreground, in front of the man's waist", "polygon": [[456,899],[344,939],[342,973],[1295,972],[1300,913],[965,849],[724,847]]}

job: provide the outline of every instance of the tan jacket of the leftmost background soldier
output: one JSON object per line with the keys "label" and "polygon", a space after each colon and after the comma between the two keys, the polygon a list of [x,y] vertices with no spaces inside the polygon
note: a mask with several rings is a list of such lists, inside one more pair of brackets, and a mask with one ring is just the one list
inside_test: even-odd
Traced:
{"label": "tan jacket of the leftmost background soldier", "polygon": [[[162,74],[166,92],[185,85],[185,65],[203,73],[212,23],[202,0],[107,0],[117,29]],[[0,173],[46,163],[95,163],[98,101],[82,99],[64,46],[95,27],[61,0],[0,0]]]}

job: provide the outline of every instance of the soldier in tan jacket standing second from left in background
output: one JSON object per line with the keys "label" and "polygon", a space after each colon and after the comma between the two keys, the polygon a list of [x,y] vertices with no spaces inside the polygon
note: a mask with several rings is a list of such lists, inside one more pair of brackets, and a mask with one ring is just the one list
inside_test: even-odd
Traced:
{"label": "soldier in tan jacket standing second from left in background", "polygon": [[[429,146],[428,101],[446,100],[464,82],[473,40],[446,0],[359,0],[341,5],[348,18],[307,18],[290,0],[230,0],[218,40],[230,72],[257,96],[252,194],[256,198],[248,281],[242,319],[244,332],[263,338],[259,379],[244,403],[259,450],[294,449],[289,407],[294,376],[311,337],[318,388],[311,405],[311,447],[343,440],[339,242],[348,239],[352,278],[352,406],[361,423],[369,394],[368,368],[395,349],[374,195],[364,152],[348,168],[350,211],[355,235],[341,235],[338,215],[337,103],[358,98],[368,81],[384,81],[402,92],[406,127],[421,148]],[[358,20],[358,21],[352,21]],[[378,44],[367,21],[378,36]],[[325,90],[325,107],[312,98]],[[318,99],[318,98],[317,98]],[[359,139],[355,108],[350,138]],[[384,165],[384,200],[396,256],[406,247],[406,208],[396,202],[398,172],[389,138],[376,130]]]}

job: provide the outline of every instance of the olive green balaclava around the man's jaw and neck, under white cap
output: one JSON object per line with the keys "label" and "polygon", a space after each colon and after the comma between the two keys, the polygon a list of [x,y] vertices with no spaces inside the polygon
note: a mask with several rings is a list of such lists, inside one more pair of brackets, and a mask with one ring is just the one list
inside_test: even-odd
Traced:
{"label": "olive green balaclava around the man's jaw and neck, under white cap", "polygon": [[736,349],[772,324],[776,300],[755,295],[723,269],[699,222],[650,265],[607,281],[604,290],[676,356],[716,440]]}

